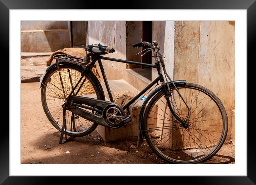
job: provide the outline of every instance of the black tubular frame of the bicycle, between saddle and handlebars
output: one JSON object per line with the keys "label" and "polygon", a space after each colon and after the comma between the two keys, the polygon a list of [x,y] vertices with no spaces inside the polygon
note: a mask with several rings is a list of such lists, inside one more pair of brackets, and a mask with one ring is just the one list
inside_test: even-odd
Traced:
{"label": "black tubular frame of the bicycle, between saddle and handlebars", "polygon": [[[102,77],[103,77],[103,80],[105,82],[105,86],[106,86],[107,91],[108,91],[109,99],[110,99],[111,102],[114,102],[101,59],[102,60],[107,60],[107,61],[115,61],[115,62],[122,62],[122,63],[127,63],[127,64],[134,64],[134,65],[139,65],[139,66],[146,66],[146,67],[156,68],[157,71],[158,71],[158,77],[155,80],[153,80],[148,86],[146,86],[141,92],[139,92],[139,94],[137,94],[135,97],[133,97],[127,104],[125,104],[123,106],[123,109],[127,109],[127,107],[129,107],[135,100],[137,100],[141,95],[143,95],[147,90],[149,90],[154,84],[158,83],[158,81],[160,81],[160,82],[164,81],[159,61],[156,61],[155,64],[144,64],[144,63],[141,63],[141,62],[134,62],[134,61],[129,61],[129,60],[121,60],[121,59],[115,59],[115,58],[110,58],[110,57],[104,57],[104,56],[100,56],[98,54],[90,54],[90,55],[92,56],[92,62],[82,71],[80,79],[78,80],[77,84],[75,85],[74,89],[70,92],[68,97],[70,97],[70,95],[73,94],[74,90],[77,88],[78,84],[82,80],[82,78],[84,76],[84,73],[87,72],[88,70],[91,70],[93,65],[95,64],[95,62],[98,61],[100,71],[102,72]],[[81,86],[83,85],[85,80],[86,80],[86,78],[83,80]],[[164,89],[164,94],[167,95],[167,90],[168,90],[167,86],[164,85],[163,89]],[[80,90],[80,88],[78,89],[78,91],[79,90]],[[76,92],[76,94],[78,93],[78,91]]]}

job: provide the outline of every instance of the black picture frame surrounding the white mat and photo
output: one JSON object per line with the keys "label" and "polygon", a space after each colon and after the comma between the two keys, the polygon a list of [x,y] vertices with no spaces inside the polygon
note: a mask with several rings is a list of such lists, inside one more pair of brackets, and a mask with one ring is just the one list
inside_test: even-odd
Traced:
{"label": "black picture frame surrounding the white mat and photo", "polygon": [[[98,1],[67,1],[67,0],[1,0],[0,1],[0,42],[1,51],[4,54],[5,61],[9,61],[9,10],[10,9],[114,9],[115,5],[119,5],[120,1],[104,1],[104,3],[99,3]],[[254,64],[253,54],[255,53],[255,40],[256,40],[256,1],[255,0],[170,0],[163,1],[158,0],[140,0],[136,2],[127,3],[126,9],[246,9],[247,10],[247,64]],[[122,7],[115,7],[116,9],[122,9]],[[86,18],[86,15],[85,15]],[[243,62],[244,65],[246,61]],[[9,66],[7,66],[9,69]],[[5,68],[5,69],[7,69]],[[255,69],[254,67],[250,67]],[[247,68],[249,69],[249,68]],[[250,79],[255,79],[255,72],[247,72],[247,87],[251,83],[255,83],[255,80],[250,81]],[[6,75],[7,76],[7,75]],[[249,82],[250,81],[250,82]],[[248,91],[247,89],[247,99],[252,97],[250,95],[253,91]],[[10,97],[9,97],[10,99]],[[253,103],[252,101],[251,103]],[[19,103],[19,102],[17,102]],[[247,105],[248,107],[248,105]],[[8,109],[9,110],[9,109]],[[254,109],[247,109],[247,115],[253,115]],[[248,124],[247,124],[248,123]],[[245,119],[245,122],[239,124],[247,124],[247,176],[218,176],[218,177],[169,177],[172,178],[171,182],[176,182],[181,180],[182,182],[187,181],[189,184],[256,184],[256,147],[255,147],[255,121],[249,122]],[[1,132],[1,142],[0,142],[0,184],[48,184],[54,179],[54,177],[22,177],[22,176],[9,176],[9,125],[6,121],[2,121],[1,125],[3,132]],[[175,167],[175,165],[171,166]],[[67,169],[68,170],[68,169]],[[71,178],[64,178],[64,182],[69,183],[72,181]],[[86,177],[87,179],[89,177]],[[97,177],[98,178],[98,177]],[[173,179],[176,178],[176,179]],[[179,178],[179,179],[178,179]],[[80,178],[76,178],[79,180]],[[58,180],[60,180],[58,178]],[[92,178],[90,178],[92,180]],[[90,182],[87,180],[85,182]],[[123,182],[117,179],[113,180],[113,177],[107,177],[104,181],[109,181],[111,183],[121,183],[121,184],[131,184],[134,181],[131,177],[125,177]],[[148,178],[148,180],[153,184],[154,182],[159,182],[155,178]],[[170,180],[170,179],[168,179]],[[74,181],[73,181],[74,183]],[[97,179],[97,184],[99,183]]]}

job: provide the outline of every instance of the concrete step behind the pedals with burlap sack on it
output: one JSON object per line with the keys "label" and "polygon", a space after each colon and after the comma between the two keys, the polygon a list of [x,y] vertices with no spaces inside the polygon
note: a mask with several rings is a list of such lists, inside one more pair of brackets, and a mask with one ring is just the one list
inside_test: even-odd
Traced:
{"label": "concrete step behind the pedals with burlap sack on it", "polygon": [[[107,88],[105,86],[104,81],[101,81],[106,100],[109,100]],[[132,92],[134,96],[136,96],[140,91],[138,91],[136,88],[134,88],[132,85],[128,84],[125,80],[109,80],[108,84],[110,86],[110,90],[112,92],[112,95],[114,95],[117,92]],[[137,100],[138,101],[138,100]],[[137,102],[135,101],[135,102]],[[144,100],[140,99],[136,104],[132,104],[129,107],[129,113],[132,116],[132,121],[129,122],[127,125],[122,126],[119,129],[112,129],[108,127],[104,127],[99,125],[97,127],[98,133],[102,136],[103,140],[105,142],[110,141],[118,141],[118,140],[136,140],[138,136],[138,117],[139,117],[139,111],[141,110],[141,106],[143,104]]]}

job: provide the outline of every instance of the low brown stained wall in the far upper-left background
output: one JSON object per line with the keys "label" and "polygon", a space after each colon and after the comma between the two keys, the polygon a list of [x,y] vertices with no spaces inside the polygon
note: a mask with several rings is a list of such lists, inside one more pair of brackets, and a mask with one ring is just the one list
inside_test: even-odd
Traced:
{"label": "low brown stained wall in the far upper-left background", "polygon": [[21,52],[70,48],[69,21],[21,21]]}

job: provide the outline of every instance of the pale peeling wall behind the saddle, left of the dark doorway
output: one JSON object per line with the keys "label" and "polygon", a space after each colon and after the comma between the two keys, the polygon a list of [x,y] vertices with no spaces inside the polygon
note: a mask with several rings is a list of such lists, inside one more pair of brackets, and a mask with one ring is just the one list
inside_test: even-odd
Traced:
{"label": "pale peeling wall behind the saddle, left of the dark doorway", "polygon": [[[126,59],[125,21],[88,21],[88,36],[89,44],[100,43],[115,49],[115,53],[105,56]],[[102,64],[108,80],[123,79],[125,63],[102,60]]]}

